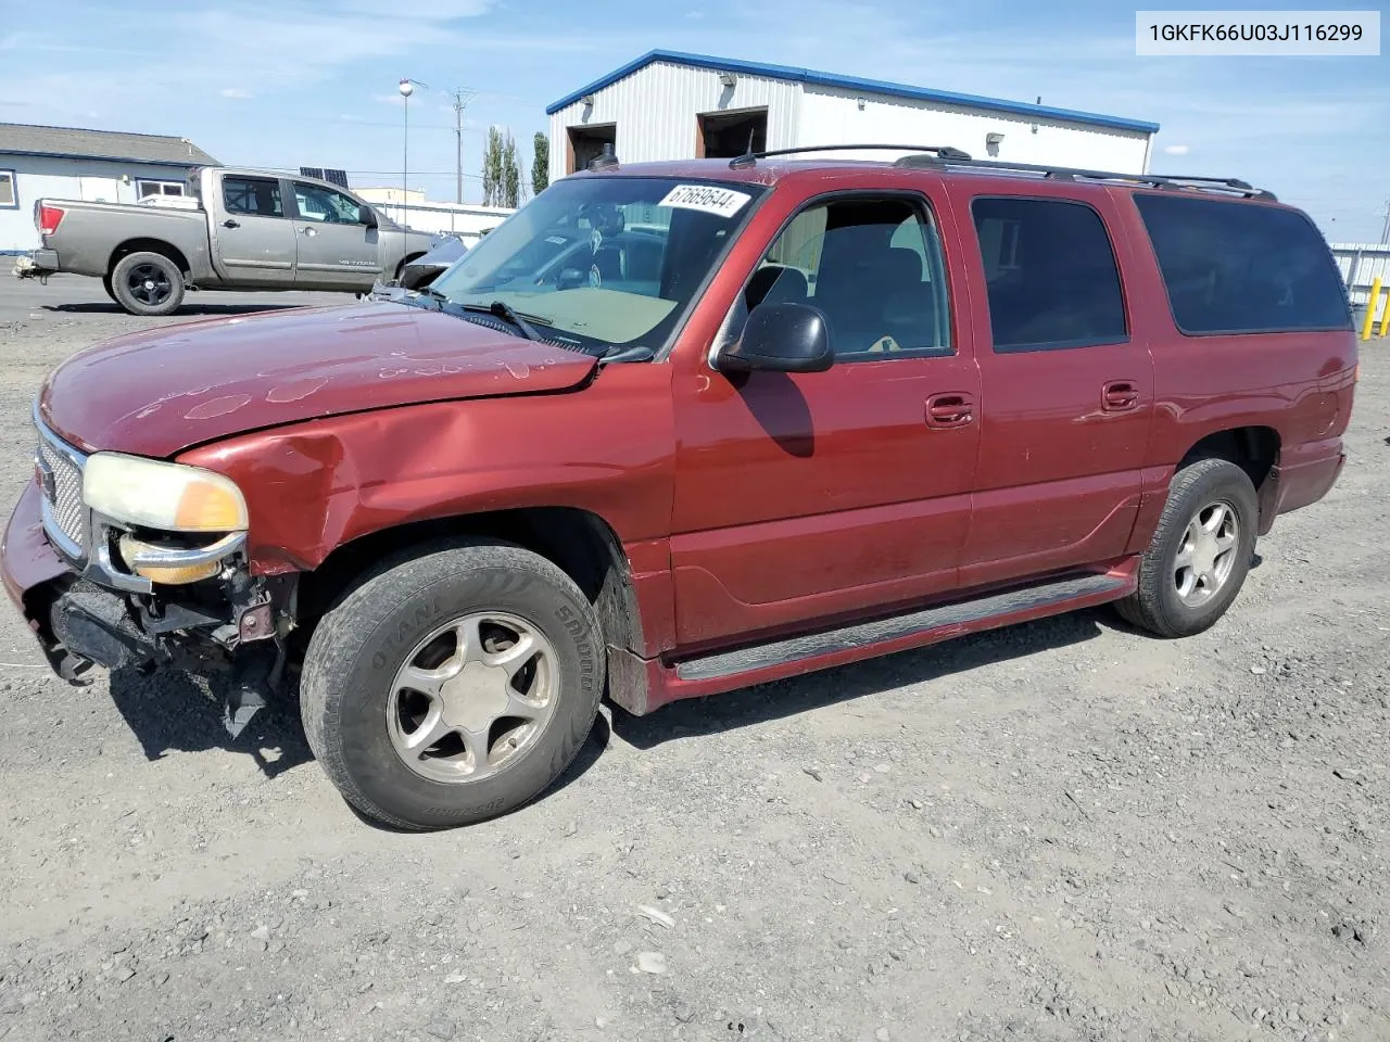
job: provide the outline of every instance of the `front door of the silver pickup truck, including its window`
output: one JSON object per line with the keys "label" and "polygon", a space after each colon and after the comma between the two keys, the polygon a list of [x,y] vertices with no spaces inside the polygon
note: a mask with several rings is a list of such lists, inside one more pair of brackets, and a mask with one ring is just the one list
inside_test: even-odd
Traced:
{"label": "front door of the silver pickup truck, including its window", "polygon": [[[302,289],[371,289],[381,274],[378,232],[361,222],[356,199],[304,181],[295,188],[295,285]],[[395,275],[395,272],[389,272]]]}

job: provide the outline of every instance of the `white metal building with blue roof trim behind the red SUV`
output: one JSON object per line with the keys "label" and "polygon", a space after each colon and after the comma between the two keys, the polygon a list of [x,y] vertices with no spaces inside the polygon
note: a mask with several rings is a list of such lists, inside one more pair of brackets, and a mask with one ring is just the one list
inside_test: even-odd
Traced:
{"label": "white metal building with blue roof trim behind the red SUV", "polygon": [[[546,108],[550,179],[612,144],[623,163],[809,144],[949,144],[976,158],[1148,171],[1158,124],[653,50]],[[841,156],[860,157],[859,153]],[[895,153],[865,153],[891,158]]]}

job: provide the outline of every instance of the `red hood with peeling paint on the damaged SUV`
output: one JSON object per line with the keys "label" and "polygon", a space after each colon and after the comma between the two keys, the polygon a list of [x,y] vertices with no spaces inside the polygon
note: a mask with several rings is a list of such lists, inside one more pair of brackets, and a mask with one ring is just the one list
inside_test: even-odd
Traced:
{"label": "red hood with peeling paint on the damaged SUV", "polygon": [[281,424],[421,402],[574,388],[596,358],[393,303],[268,311],[118,336],[39,396],[74,445],[172,456]]}

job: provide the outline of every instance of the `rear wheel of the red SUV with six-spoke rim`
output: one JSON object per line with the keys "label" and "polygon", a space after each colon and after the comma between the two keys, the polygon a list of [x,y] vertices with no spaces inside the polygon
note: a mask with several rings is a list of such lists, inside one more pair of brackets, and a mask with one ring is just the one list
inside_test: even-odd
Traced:
{"label": "rear wheel of the red SUV with six-spoke rim", "polygon": [[1170,638],[1212,627],[1250,572],[1258,518],[1255,486],[1236,464],[1198,460],[1180,470],[1120,615]]}

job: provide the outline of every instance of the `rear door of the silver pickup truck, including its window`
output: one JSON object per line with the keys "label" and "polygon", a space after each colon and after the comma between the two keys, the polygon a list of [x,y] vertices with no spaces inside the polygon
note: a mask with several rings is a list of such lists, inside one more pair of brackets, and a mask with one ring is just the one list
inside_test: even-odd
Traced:
{"label": "rear door of the silver pickup truck, including its window", "polygon": [[295,281],[295,225],[279,178],[221,178],[222,215],[214,221],[214,256],[229,279],[289,286]]}

